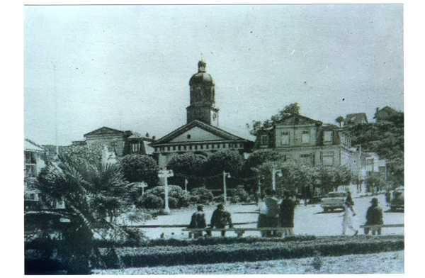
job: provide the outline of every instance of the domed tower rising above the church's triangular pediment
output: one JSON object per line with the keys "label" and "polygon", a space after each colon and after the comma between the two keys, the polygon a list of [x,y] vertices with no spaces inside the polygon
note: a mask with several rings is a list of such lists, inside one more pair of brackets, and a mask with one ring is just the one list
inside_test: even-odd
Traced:
{"label": "domed tower rising above the church's triangular pediment", "polygon": [[210,74],[205,72],[207,64],[198,62],[198,73],[189,81],[191,105],[186,108],[187,123],[198,120],[218,126],[218,109],[215,108],[215,84]]}

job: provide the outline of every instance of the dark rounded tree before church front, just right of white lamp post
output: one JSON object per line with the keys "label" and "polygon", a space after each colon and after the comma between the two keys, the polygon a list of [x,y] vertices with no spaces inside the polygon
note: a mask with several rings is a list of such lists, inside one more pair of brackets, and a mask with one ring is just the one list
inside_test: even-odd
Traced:
{"label": "dark rounded tree before church front, just right of white lamp post", "polygon": [[166,168],[174,172],[174,177],[170,178],[170,182],[184,183],[184,179],[188,180],[188,189],[200,187],[204,184],[203,169],[206,157],[193,153],[184,155],[176,155],[171,158]]}

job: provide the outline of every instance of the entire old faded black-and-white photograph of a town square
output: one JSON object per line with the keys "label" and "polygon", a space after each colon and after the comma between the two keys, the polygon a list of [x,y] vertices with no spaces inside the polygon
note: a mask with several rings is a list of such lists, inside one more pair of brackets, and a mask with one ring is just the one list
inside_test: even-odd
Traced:
{"label": "entire old faded black-and-white photograph of a town square", "polygon": [[404,274],[404,4],[21,9],[25,274]]}

